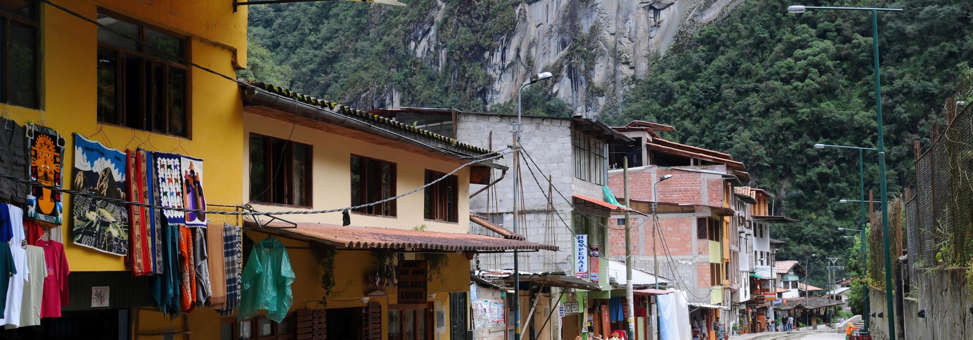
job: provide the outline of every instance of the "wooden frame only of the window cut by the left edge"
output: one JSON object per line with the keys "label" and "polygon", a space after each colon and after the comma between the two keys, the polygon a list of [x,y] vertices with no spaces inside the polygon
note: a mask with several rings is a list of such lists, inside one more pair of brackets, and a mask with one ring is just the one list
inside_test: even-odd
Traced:
{"label": "wooden frame only of the window cut by the left edge", "polygon": [[[3,88],[0,88],[0,91],[2,91],[2,93],[0,93],[0,103],[17,105],[17,106],[21,106],[29,109],[37,109],[37,110],[40,110],[43,107],[43,105],[41,105],[41,88],[44,87],[43,85],[41,85],[41,81],[43,80],[43,78],[41,77],[41,67],[43,66],[41,65],[41,49],[43,47],[41,46],[42,27],[41,27],[41,18],[40,18],[41,17],[40,6],[37,6],[37,4],[39,3],[40,1],[33,1],[33,0],[28,1],[28,4],[30,4],[29,6],[32,7],[31,12],[33,13],[34,16],[33,18],[22,17],[10,12],[0,11],[0,25],[3,26],[3,34],[0,35],[0,39],[2,39],[0,40],[0,44],[3,44],[3,48],[2,48],[3,54],[0,55],[0,61],[2,61],[2,63],[0,63],[0,68],[3,68],[3,76],[4,76],[4,79],[2,80]],[[34,59],[34,85],[36,86],[34,88],[34,98],[33,98],[35,104],[34,106],[22,106],[19,104],[13,104],[10,101],[11,93],[13,91],[11,89],[12,86],[11,86],[11,72],[10,72],[11,71],[10,57],[8,53],[10,51],[9,49],[10,26],[12,22],[24,26],[28,26],[32,28],[34,31],[34,54],[32,55]]]}

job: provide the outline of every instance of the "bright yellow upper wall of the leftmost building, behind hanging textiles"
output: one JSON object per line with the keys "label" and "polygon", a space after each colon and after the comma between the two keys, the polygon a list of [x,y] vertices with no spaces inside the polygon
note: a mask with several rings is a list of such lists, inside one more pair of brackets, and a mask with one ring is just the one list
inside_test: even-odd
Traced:
{"label": "bright yellow upper wall of the leftmost building, behind hanging textiles", "polygon": [[[191,59],[217,72],[234,75],[234,58],[246,55],[246,10],[233,13],[229,4],[212,1],[58,1],[57,4],[85,17],[95,18],[98,7],[134,17],[190,37]],[[72,133],[77,132],[106,146],[185,153],[205,160],[203,185],[207,201],[240,203],[236,189],[239,176],[239,142],[242,112],[239,91],[233,82],[195,68],[189,71],[192,131],[190,139],[99,124],[96,120],[97,26],[46,4],[41,14],[41,110],[0,103],[11,119],[43,121],[64,136],[64,187],[71,187],[74,163]],[[235,51],[234,51],[235,49]],[[146,142],[142,142],[146,141]],[[219,146],[219,148],[214,148]],[[229,152],[228,152],[229,151]],[[64,221],[61,240],[72,271],[126,270],[123,258],[74,246],[70,225],[71,197],[63,196]],[[56,238],[57,236],[54,235]]]}

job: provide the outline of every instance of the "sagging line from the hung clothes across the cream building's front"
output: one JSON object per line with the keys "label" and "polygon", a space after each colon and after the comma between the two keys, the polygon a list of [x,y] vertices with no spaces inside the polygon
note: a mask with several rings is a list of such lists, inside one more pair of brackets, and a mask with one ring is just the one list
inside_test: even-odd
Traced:
{"label": "sagging line from the hung clothes across the cream building's front", "polygon": [[452,171],[450,171],[450,173],[444,175],[443,177],[440,177],[440,178],[438,178],[438,179],[436,179],[436,180],[434,180],[434,181],[432,181],[430,183],[427,183],[427,184],[425,184],[422,187],[416,187],[416,188],[414,188],[412,190],[409,190],[409,191],[407,191],[405,193],[402,193],[402,194],[399,194],[399,195],[396,195],[396,196],[393,196],[393,197],[388,197],[388,198],[385,198],[385,199],[382,199],[382,200],[378,200],[376,202],[359,204],[359,205],[352,206],[352,207],[345,207],[345,208],[338,208],[338,209],[328,209],[328,210],[306,210],[306,211],[284,211],[284,212],[229,212],[229,211],[221,211],[221,210],[200,210],[200,209],[188,209],[188,208],[173,208],[173,207],[163,207],[163,206],[154,205],[154,204],[146,204],[146,203],[140,203],[140,202],[126,201],[126,200],[120,199],[120,198],[105,197],[105,196],[97,195],[97,194],[94,194],[94,193],[91,193],[91,192],[72,190],[72,189],[67,189],[67,188],[62,188],[62,187],[48,186],[48,185],[44,185],[44,184],[41,184],[41,183],[36,182],[36,181],[23,180],[23,179],[20,179],[18,177],[6,175],[6,174],[0,174],[0,178],[7,179],[7,180],[10,180],[10,181],[14,181],[14,182],[21,183],[21,184],[26,184],[26,185],[34,186],[34,187],[43,187],[43,188],[47,188],[47,189],[50,189],[50,190],[53,190],[53,191],[56,191],[56,192],[67,193],[67,194],[71,194],[71,195],[75,195],[75,196],[81,196],[81,197],[88,197],[88,198],[99,199],[99,200],[102,200],[102,201],[105,201],[105,202],[109,202],[109,203],[115,203],[115,204],[120,204],[120,205],[128,205],[128,206],[136,206],[136,207],[143,207],[143,208],[149,208],[149,209],[158,209],[158,210],[168,210],[168,211],[175,211],[175,212],[183,212],[183,213],[214,214],[214,215],[242,215],[242,216],[316,215],[316,214],[341,213],[341,212],[345,212],[345,211],[349,211],[349,210],[355,210],[355,209],[370,207],[370,206],[374,206],[374,205],[386,203],[386,202],[389,202],[389,201],[393,201],[393,200],[396,200],[396,199],[405,197],[407,195],[413,194],[413,193],[415,193],[418,190],[421,190],[421,189],[424,189],[426,187],[430,187],[432,185],[435,185],[435,184],[439,183],[440,181],[443,181],[443,180],[449,178],[450,176],[452,176],[453,174],[455,174],[459,170],[461,170],[461,169],[463,169],[463,168],[465,168],[467,166],[473,165],[474,163],[478,163],[478,162],[482,162],[482,161],[487,161],[487,160],[492,160],[492,159],[500,158],[500,157],[504,156],[507,153],[512,153],[512,151],[510,151],[509,148],[508,148],[508,149],[501,150],[499,152],[486,153],[486,154],[493,154],[493,155],[488,156],[488,157],[485,157],[485,158],[474,159],[474,160],[471,160],[469,162],[466,162],[463,165],[460,165],[458,168],[453,169]]}

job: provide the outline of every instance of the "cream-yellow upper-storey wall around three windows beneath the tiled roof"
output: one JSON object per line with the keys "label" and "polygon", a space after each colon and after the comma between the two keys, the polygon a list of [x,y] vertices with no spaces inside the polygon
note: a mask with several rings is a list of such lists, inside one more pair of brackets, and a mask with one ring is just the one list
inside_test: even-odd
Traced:
{"label": "cream-yellow upper-storey wall around three windows beneath the tiled roof", "polygon": [[[387,146],[369,143],[341,135],[325,133],[306,126],[295,125],[278,119],[270,119],[250,113],[244,113],[245,133],[237,137],[244,145],[249,143],[249,133],[258,133],[271,137],[292,140],[312,146],[314,153],[311,165],[311,183],[314,190],[311,202],[315,210],[344,208],[351,205],[351,154],[369,156],[396,163],[396,194],[401,194],[415,187],[425,184],[425,169],[449,173],[462,164],[460,161],[449,162]],[[293,129],[293,135],[291,130]],[[249,183],[249,153],[243,154],[239,170],[243,183]],[[380,226],[389,228],[412,229],[425,224],[430,231],[460,232],[469,231],[469,168],[456,173],[459,184],[458,222],[426,221],[423,217],[423,193],[417,191],[400,198],[396,204],[397,217],[378,217],[351,213],[351,225]],[[245,185],[241,189],[243,197],[250,197],[250,187]],[[261,211],[289,211],[300,210],[269,205],[255,205]],[[323,223],[341,223],[342,214],[324,215],[292,215],[285,218],[288,221],[307,221]],[[467,278],[468,279],[468,278]]]}

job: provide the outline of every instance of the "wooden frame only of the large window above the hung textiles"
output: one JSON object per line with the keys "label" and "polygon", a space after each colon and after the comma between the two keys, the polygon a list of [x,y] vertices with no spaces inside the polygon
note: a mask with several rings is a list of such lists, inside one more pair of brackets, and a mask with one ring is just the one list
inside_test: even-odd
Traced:
{"label": "wooden frame only of the large window above the hung textiles", "polygon": [[[146,39],[145,39],[145,31],[146,31],[146,29],[151,29],[151,30],[160,32],[162,34],[171,36],[173,38],[179,39],[180,40],[180,43],[182,44],[183,55],[177,55],[175,57],[178,58],[178,59],[186,60],[186,61],[188,61],[190,59],[190,55],[193,55],[192,54],[192,51],[190,50],[191,47],[192,47],[190,37],[185,36],[185,35],[181,35],[181,34],[176,34],[176,33],[172,32],[170,30],[167,30],[167,29],[164,29],[164,28],[161,28],[161,27],[158,27],[158,26],[153,26],[153,25],[148,24],[148,23],[145,23],[145,22],[143,22],[141,20],[138,20],[138,19],[135,19],[135,18],[132,18],[132,17],[126,17],[124,15],[121,15],[121,14],[118,14],[118,13],[115,13],[115,12],[112,12],[112,11],[109,11],[109,10],[105,10],[105,9],[102,9],[102,8],[98,8],[98,14],[99,15],[105,15],[105,16],[108,16],[108,17],[114,17],[114,18],[117,18],[119,20],[126,21],[128,23],[134,24],[135,26],[137,26],[137,29],[138,29],[138,36],[137,37],[134,37],[134,38],[136,38],[138,40],[138,42],[136,43],[138,45],[137,51],[130,50],[130,49],[126,49],[126,48],[123,48],[123,47],[114,46],[114,45],[111,45],[111,44],[108,44],[108,43],[103,43],[103,42],[100,42],[100,41],[97,42],[97,50],[105,49],[105,50],[113,51],[113,52],[117,53],[116,54],[117,55],[117,58],[116,59],[118,60],[116,62],[116,68],[115,68],[115,75],[116,75],[116,77],[115,77],[115,88],[116,88],[116,90],[115,90],[115,103],[116,104],[115,104],[115,113],[114,113],[115,122],[102,121],[102,120],[99,119],[98,120],[98,123],[109,124],[109,125],[117,125],[117,126],[123,126],[123,127],[131,128],[131,129],[140,130],[140,131],[147,131],[147,132],[151,132],[151,133],[159,133],[159,134],[164,134],[164,135],[169,135],[169,136],[174,136],[174,137],[180,137],[180,138],[186,138],[186,139],[192,140],[193,139],[193,110],[192,110],[193,109],[193,105],[192,105],[192,97],[193,97],[192,96],[192,93],[193,93],[193,89],[192,89],[193,81],[192,80],[193,80],[193,78],[192,78],[191,67],[190,67],[190,65],[188,63],[186,63],[184,61],[183,62],[176,62],[176,61],[166,60],[166,59],[160,58],[158,56],[151,55],[150,52],[148,51],[149,49],[146,48],[146,45],[147,44],[145,43],[145,41],[146,41]],[[99,27],[99,29],[100,29],[100,27]],[[125,78],[126,78],[125,77],[125,74],[126,74],[126,62],[127,62],[126,61],[126,56],[134,56],[134,57],[140,58],[140,60],[141,60],[141,64],[138,66],[138,69],[139,69],[139,73],[141,75],[142,84],[135,85],[135,87],[137,87],[137,88],[129,88],[129,86],[125,82]],[[164,126],[163,126],[162,129],[149,128],[149,126],[155,122],[155,117],[153,116],[155,114],[152,113],[152,110],[149,108],[149,98],[148,98],[148,95],[147,95],[147,88],[146,88],[146,83],[148,82],[149,77],[152,77],[153,76],[151,74],[151,72],[149,72],[149,70],[147,70],[147,67],[146,67],[146,65],[147,64],[150,64],[150,63],[152,64],[152,66],[162,66],[162,79],[164,80],[162,82],[162,84],[164,84],[163,92],[166,93],[166,96],[162,100],[162,112],[165,113],[164,114],[165,115],[165,119],[164,119],[165,122],[164,122]],[[168,86],[168,79],[169,79],[169,71],[172,68],[181,69],[181,70],[183,70],[183,72],[185,74],[185,79],[184,79],[185,84],[183,85],[183,89],[184,90],[183,90],[183,98],[182,98],[183,99],[183,107],[184,107],[183,109],[185,111],[184,112],[184,115],[185,115],[184,123],[186,124],[185,134],[184,135],[183,134],[176,134],[176,133],[173,133],[172,131],[169,131],[169,127],[170,127],[170,124],[171,124],[171,122],[169,121],[169,119],[171,118],[171,114],[169,113],[169,98],[170,97],[168,96],[168,94],[170,92],[170,90],[169,90],[170,87]],[[137,96],[138,96],[139,103],[138,103],[137,107],[140,108],[140,110],[142,110],[142,112],[141,113],[138,113],[137,115],[141,116],[141,118],[143,120],[143,122],[141,124],[141,127],[131,126],[131,125],[128,124],[128,121],[127,121],[127,116],[128,116],[127,114],[128,113],[126,112],[126,110],[127,110],[126,93],[128,93],[129,90],[135,90],[136,92],[138,92],[138,95]],[[105,113],[104,115],[110,115],[110,114],[111,113]],[[100,118],[101,114],[99,113],[98,116]]]}

